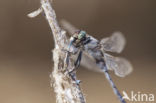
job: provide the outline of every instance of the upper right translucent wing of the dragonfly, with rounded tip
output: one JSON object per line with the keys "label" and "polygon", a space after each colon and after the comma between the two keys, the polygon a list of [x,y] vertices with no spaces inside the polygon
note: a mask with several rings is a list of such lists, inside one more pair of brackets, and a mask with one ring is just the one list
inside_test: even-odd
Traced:
{"label": "upper right translucent wing of the dragonfly, with rounded tip", "polygon": [[126,44],[126,40],[122,33],[115,32],[109,38],[104,38],[100,41],[104,51],[121,53]]}

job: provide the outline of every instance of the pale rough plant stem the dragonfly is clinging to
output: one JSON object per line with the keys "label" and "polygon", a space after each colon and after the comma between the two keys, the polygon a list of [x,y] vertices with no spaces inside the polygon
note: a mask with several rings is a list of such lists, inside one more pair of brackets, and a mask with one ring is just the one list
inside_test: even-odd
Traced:
{"label": "pale rough plant stem the dragonfly is clinging to", "polygon": [[57,103],[85,103],[85,98],[80,89],[79,80],[76,79],[76,71],[70,73],[74,68],[72,57],[69,58],[69,65],[65,61],[68,39],[56,20],[56,14],[49,0],[41,0],[41,8],[28,14],[29,17],[35,17],[43,12],[52,30],[55,48],[53,50],[54,69],[50,75],[51,86],[54,87]]}

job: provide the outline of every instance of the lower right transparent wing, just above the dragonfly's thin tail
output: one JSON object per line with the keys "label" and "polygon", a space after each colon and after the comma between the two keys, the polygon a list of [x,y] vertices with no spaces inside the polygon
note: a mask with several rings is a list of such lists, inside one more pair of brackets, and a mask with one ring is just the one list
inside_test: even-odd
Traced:
{"label": "lower right transparent wing, just above the dragonfly's thin tail", "polygon": [[119,77],[125,77],[133,70],[131,63],[124,58],[113,57],[105,53],[104,59],[108,70],[113,70]]}

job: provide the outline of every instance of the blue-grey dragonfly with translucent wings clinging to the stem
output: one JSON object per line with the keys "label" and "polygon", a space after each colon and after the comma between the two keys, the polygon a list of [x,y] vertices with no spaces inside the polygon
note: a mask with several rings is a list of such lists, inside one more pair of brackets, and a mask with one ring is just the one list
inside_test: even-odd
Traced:
{"label": "blue-grey dragonfly with translucent wings clinging to the stem", "polygon": [[[68,54],[73,52],[77,54],[77,59],[75,60],[75,68],[78,68],[82,63],[88,68],[94,68],[96,65],[97,71],[103,72],[105,77],[109,81],[114,93],[118,96],[121,103],[126,103],[119,90],[117,89],[115,83],[113,82],[110,71],[119,77],[125,77],[130,74],[133,70],[131,63],[122,57],[114,57],[109,54],[121,53],[125,47],[126,40],[122,33],[115,32],[110,37],[97,40],[94,37],[88,35],[83,30],[78,30],[70,37],[70,42],[68,45]],[[84,52],[84,53],[83,53]],[[67,55],[66,62],[68,63],[69,55]],[[94,68],[94,70],[95,70]],[[75,69],[74,69],[75,70]]]}

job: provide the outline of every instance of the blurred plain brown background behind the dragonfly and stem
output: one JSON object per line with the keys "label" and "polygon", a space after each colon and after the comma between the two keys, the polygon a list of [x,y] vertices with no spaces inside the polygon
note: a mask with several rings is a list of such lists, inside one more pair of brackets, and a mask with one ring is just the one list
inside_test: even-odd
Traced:
{"label": "blurred plain brown background behind the dragonfly and stem", "polygon": [[[156,95],[155,0],[53,1],[58,20],[66,19],[98,39],[121,31],[127,45],[120,56],[131,61],[134,71],[125,78],[111,72],[113,80],[128,94]],[[0,0],[0,103],[55,103],[49,78],[51,30],[43,15],[27,17],[39,6],[39,0]],[[103,74],[83,67],[77,74],[87,103],[119,103]]]}

